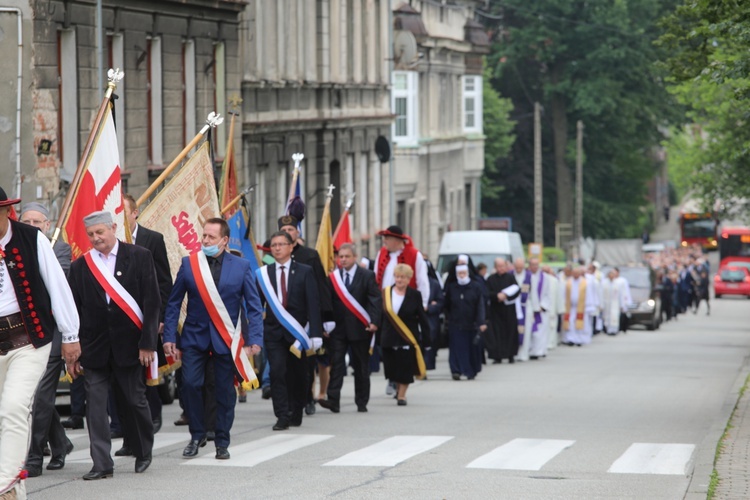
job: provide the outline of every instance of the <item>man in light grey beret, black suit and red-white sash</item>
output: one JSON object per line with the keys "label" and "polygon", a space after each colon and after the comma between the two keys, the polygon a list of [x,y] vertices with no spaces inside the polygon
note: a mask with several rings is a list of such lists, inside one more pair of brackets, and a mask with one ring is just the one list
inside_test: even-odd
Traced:
{"label": "man in light grey beret, black suit and red-white sash", "polygon": [[155,362],[159,329],[159,285],[151,252],[117,240],[112,214],[83,219],[93,248],[73,262],[68,281],[81,317],[81,358],[86,370],[86,420],[94,467],[83,479],[112,477],[114,462],[107,418],[109,385],[136,457],[135,471],[151,465],[154,426],[146,400],[144,367]]}

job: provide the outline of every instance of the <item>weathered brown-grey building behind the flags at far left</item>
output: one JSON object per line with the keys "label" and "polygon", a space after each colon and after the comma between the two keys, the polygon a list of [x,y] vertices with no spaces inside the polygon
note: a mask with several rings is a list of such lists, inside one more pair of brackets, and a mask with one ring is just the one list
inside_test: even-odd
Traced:
{"label": "weathered brown-grey building behind the flags at far left", "polygon": [[[20,151],[24,200],[45,202],[53,212],[75,173],[108,68],[125,73],[115,114],[126,189],[136,197],[193,138],[208,113],[226,114],[228,96],[240,91],[238,22],[244,0],[103,0],[101,46],[96,4],[0,0],[0,50],[16,53],[19,25],[23,40],[19,78],[16,58],[0,62],[7,77],[0,82],[3,95],[20,96],[20,106],[15,99],[0,102],[0,148],[12,152],[8,174],[16,173]],[[216,132],[218,159],[227,130]],[[16,193],[19,185],[13,187]]]}

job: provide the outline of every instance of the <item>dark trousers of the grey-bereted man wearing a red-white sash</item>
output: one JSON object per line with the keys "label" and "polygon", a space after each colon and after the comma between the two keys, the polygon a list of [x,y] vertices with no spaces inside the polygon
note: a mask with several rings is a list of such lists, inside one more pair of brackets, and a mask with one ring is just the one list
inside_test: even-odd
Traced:
{"label": "dark trousers of the grey-bereted man wearing a red-white sash", "polygon": [[154,446],[154,424],[146,399],[146,381],[143,366],[115,367],[112,363],[103,368],[86,368],[86,421],[91,442],[92,470],[105,471],[114,465],[110,452],[107,396],[110,383],[115,401],[122,413],[122,429],[136,458],[151,456]]}

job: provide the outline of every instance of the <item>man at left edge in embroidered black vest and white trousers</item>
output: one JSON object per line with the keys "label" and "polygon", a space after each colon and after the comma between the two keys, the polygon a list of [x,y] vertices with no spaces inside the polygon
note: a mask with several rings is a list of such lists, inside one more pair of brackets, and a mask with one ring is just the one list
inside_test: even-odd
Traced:
{"label": "man at left edge in embroidered black vest and white trousers", "polygon": [[81,353],[75,302],[49,240],[10,218],[20,202],[0,188],[0,498],[26,498],[31,406],[55,327],[69,369]]}

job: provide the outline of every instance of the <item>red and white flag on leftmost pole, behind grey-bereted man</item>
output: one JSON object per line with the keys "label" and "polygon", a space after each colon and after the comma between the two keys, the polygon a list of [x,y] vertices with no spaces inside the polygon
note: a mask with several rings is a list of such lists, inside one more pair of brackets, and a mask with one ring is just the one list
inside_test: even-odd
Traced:
{"label": "red and white flag on leftmost pole, behind grey-bereted man", "polygon": [[81,177],[68,218],[63,225],[65,241],[70,244],[76,259],[90,248],[83,218],[91,212],[107,210],[117,224],[117,237],[125,240],[125,212],[122,203],[122,179],[120,153],[117,149],[117,134],[112,118],[112,105],[107,106],[88,157],[84,159],[85,170]]}

